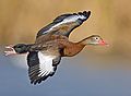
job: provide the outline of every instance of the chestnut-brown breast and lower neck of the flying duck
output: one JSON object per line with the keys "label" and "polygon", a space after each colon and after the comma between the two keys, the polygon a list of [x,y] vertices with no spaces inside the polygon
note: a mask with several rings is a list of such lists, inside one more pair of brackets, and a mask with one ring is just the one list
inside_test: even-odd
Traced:
{"label": "chestnut-brown breast and lower neck of the flying duck", "polygon": [[83,41],[72,43],[64,48],[64,57],[73,57],[78,55],[86,45]]}

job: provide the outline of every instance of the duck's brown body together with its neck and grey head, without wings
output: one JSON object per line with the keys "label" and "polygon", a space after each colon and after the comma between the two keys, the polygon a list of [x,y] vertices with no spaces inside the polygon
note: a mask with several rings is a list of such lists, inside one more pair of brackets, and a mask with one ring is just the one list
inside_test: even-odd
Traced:
{"label": "duck's brown body together with its neck and grey head, without wings", "polygon": [[[90,37],[82,39],[79,43],[72,43],[66,36],[61,35],[52,35],[49,38],[50,38],[49,40],[47,39],[45,40],[45,36],[40,36],[39,38],[36,39],[34,46],[31,47],[29,51],[34,51],[36,49],[40,50],[57,49],[60,50],[61,57],[72,57],[79,53],[86,45],[103,45],[100,44],[100,41],[104,41],[102,37],[98,35],[92,35]],[[53,53],[53,51],[51,51],[51,53]]]}

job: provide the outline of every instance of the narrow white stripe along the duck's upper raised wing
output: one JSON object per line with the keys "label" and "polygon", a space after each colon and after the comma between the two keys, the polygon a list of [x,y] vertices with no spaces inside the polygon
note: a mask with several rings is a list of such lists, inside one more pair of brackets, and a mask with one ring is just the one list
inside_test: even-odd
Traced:
{"label": "narrow white stripe along the duck's upper raised wing", "polygon": [[75,22],[75,21],[79,20],[79,19],[84,20],[84,19],[86,19],[86,16],[80,15],[80,14],[69,16],[69,17],[64,19],[62,22],[56,24],[55,26],[52,26],[51,28],[49,28],[48,31],[46,31],[46,32],[44,32],[44,33],[48,33],[48,32],[50,32],[52,28],[55,28],[55,27],[57,27],[57,26],[59,26],[59,25],[61,25],[61,24],[66,24],[66,23],[70,23],[70,22]]}

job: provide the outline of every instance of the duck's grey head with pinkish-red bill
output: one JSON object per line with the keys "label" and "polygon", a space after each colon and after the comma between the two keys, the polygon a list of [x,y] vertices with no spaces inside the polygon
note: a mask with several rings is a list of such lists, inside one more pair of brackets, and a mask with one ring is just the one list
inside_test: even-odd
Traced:
{"label": "duck's grey head with pinkish-red bill", "polygon": [[84,45],[99,45],[105,46],[108,45],[99,35],[92,35],[82,41]]}

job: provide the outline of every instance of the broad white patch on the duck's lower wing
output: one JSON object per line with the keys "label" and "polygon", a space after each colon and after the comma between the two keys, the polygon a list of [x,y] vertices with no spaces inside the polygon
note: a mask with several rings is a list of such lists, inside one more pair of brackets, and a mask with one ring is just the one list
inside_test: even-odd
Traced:
{"label": "broad white patch on the duck's lower wing", "polygon": [[40,72],[38,76],[45,76],[52,73],[53,72],[52,60],[55,59],[55,56],[46,56],[39,51],[38,58]]}

